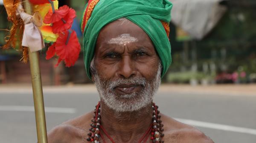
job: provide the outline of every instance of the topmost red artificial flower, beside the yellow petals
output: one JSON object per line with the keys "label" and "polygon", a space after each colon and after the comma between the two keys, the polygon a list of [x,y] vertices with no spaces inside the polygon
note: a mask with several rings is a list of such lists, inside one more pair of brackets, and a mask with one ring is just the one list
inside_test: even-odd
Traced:
{"label": "topmost red artificial flower, beside the yellow petals", "polygon": [[70,8],[67,5],[65,5],[61,6],[58,10],[55,10],[54,13],[52,11],[49,11],[44,17],[44,23],[50,24],[61,20],[61,18],[64,18],[67,15],[69,10]]}

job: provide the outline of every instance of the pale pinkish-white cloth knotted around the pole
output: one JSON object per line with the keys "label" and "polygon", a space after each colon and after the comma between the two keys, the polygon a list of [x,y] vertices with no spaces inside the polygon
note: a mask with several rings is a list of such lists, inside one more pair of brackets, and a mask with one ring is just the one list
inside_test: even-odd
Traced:
{"label": "pale pinkish-white cloth knotted around the pole", "polygon": [[29,47],[30,52],[42,50],[45,47],[44,39],[41,31],[35,25],[33,16],[25,13],[21,4],[17,8],[17,15],[20,15],[25,25],[22,46]]}

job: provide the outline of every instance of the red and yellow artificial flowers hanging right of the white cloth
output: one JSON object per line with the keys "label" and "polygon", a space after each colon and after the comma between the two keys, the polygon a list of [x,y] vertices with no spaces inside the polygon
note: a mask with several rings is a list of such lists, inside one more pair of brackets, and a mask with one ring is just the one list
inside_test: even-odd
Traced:
{"label": "red and yellow artificial flowers hanging right of the white cloth", "polygon": [[76,11],[68,6],[58,8],[58,0],[29,0],[34,11],[39,11],[43,19],[40,30],[45,42],[53,42],[47,50],[46,59],[58,56],[58,64],[64,61],[73,66],[79,58],[81,46],[75,31],[71,30]]}

